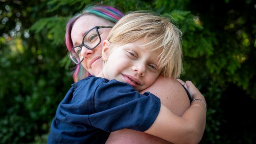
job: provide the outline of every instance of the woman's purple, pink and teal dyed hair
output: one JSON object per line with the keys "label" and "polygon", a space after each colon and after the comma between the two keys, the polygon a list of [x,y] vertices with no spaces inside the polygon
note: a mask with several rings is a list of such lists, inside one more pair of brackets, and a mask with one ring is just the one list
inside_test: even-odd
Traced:
{"label": "woman's purple, pink and teal dyed hair", "polygon": [[[116,23],[122,16],[123,13],[120,12],[119,10],[113,8],[113,7],[109,7],[109,6],[91,6],[88,7],[86,9],[84,9],[81,13],[77,13],[75,14],[74,17],[72,17],[66,27],[66,34],[65,34],[65,43],[67,46],[68,51],[71,51],[71,49],[74,47],[73,46],[73,42],[71,39],[71,30],[72,27],[75,23],[75,21],[86,14],[93,14],[96,15],[100,18],[106,19],[110,22]],[[88,73],[81,64],[77,65],[75,67],[75,71],[73,73],[73,79],[74,82],[77,82],[83,78],[85,78],[86,76],[89,76],[90,73]]]}

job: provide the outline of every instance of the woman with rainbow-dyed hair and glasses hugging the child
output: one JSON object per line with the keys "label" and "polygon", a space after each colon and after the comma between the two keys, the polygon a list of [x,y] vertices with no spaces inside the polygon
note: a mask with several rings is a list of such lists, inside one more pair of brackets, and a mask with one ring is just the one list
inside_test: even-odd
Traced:
{"label": "woman with rainbow-dyed hair and glasses hugging the child", "polygon": [[[77,64],[73,74],[74,81],[88,75],[98,75],[102,69],[102,41],[108,36],[111,27],[123,14],[107,6],[93,6],[74,16],[67,24],[65,42],[70,51],[70,58]],[[95,45],[87,45],[86,41],[100,37]],[[77,59],[76,52],[83,56]],[[182,85],[175,79],[160,76],[153,85],[141,93],[149,91],[156,94],[161,103],[175,114],[181,116],[190,106],[189,97]],[[205,125],[205,117],[201,125]],[[204,128],[204,127],[203,127]],[[202,129],[203,132],[204,129]],[[201,135],[202,137],[202,135]],[[138,131],[119,130],[110,134],[107,143],[168,143],[167,141]]]}

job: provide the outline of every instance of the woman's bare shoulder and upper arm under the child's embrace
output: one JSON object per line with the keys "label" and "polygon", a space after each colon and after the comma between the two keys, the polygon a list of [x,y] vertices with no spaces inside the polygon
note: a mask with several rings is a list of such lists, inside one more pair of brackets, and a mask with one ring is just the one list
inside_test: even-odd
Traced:
{"label": "woman's bare shoulder and upper arm under the child's embrace", "polygon": [[[161,104],[178,116],[181,116],[190,106],[188,95],[181,84],[175,79],[159,76],[154,84],[141,93],[144,92],[151,92],[157,95],[161,100]],[[143,132],[123,129],[112,132],[106,143],[164,144],[169,142]]]}

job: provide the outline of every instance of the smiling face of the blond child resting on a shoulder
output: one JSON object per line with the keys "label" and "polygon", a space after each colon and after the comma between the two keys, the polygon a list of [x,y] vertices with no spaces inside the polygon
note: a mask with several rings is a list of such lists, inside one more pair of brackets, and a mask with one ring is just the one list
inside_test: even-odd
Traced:
{"label": "smiling face of the blond child resting on a shoulder", "polygon": [[145,46],[141,46],[143,44],[144,38],[115,46],[112,50],[109,48],[110,43],[103,44],[104,77],[128,83],[137,91],[152,85],[161,72],[158,68],[159,53],[148,51],[150,48],[147,50]]}

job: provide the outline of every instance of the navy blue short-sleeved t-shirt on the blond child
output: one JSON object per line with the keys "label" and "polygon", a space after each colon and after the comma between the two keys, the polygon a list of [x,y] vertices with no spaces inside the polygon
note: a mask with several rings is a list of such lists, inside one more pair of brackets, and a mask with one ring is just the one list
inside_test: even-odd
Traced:
{"label": "navy blue short-sleeved t-shirt on the blond child", "polygon": [[48,143],[105,143],[110,132],[144,132],[155,121],[160,99],[131,85],[90,76],[72,84],[60,102]]}

